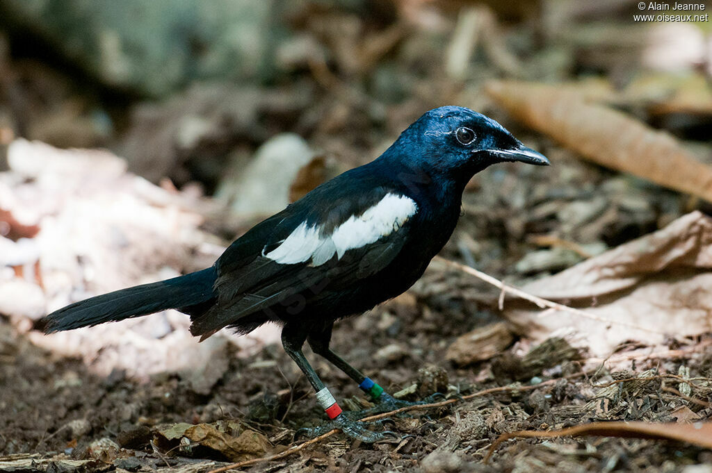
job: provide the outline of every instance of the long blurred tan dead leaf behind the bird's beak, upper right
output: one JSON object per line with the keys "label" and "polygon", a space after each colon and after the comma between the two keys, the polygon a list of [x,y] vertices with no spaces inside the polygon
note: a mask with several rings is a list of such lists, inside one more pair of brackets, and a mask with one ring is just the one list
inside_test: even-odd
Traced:
{"label": "long blurred tan dead leaf behind the bird's beak, upper right", "polygon": [[669,134],[587,102],[571,88],[498,81],[486,90],[514,117],[586,159],[712,202],[712,167]]}

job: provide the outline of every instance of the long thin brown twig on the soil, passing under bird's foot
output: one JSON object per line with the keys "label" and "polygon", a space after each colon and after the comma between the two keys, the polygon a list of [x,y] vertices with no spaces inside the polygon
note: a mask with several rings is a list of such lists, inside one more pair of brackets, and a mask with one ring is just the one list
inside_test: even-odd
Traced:
{"label": "long thin brown twig on the soil, passing under bird's foot", "polygon": [[[564,376],[563,378],[550,379],[548,381],[542,381],[541,383],[533,384],[530,386],[498,386],[497,388],[488,388],[488,389],[478,391],[476,393],[462,396],[461,398],[446,399],[446,400],[440,401],[439,403],[408,405],[404,408],[392,410],[387,413],[381,413],[381,414],[371,415],[369,417],[362,418],[359,420],[359,422],[370,422],[371,420],[387,418],[387,417],[391,417],[392,415],[395,415],[395,414],[407,412],[408,410],[439,408],[444,405],[459,403],[460,401],[463,401],[463,400],[470,400],[473,398],[478,398],[483,395],[488,395],[488,394],[493,394],[493,393],[503,393],[503,392],[507,392],[507,391],[534,390],[534,389],[540,388],[542,386],[554,384],[557,381],[559,381],[560,379],[578,378],[579,376],[584,376],[584,375],[585,375],[585,373],[581,371],[579,373],[574,373],[574,374],[571,374],[568,376]],[[288,457],[289,455],[299,452],[300,450],[304,450],[305,447],[308,447],[309,445],[313,445],[316,442],[319,442],[320,440],[324,440],[325,438],[330,437],[331,435],[334,435],[336,432],[339,432],[339,430],[333,429],[333,430],[330,430],[329,432],[326,432],[325,434],[319,435],[318,437],[314,437],[311,440],[307,440],[306,442],[300,443],[299,445],[294,445],[293,447],[289,447],[287,450],[284,450],[283,452],[279,452],[275,455],[271,455],[269,457],[253,458],[253,459],[245,460],[244,462],[232,463],[232,464],[226,465],[224,467],[220,467],[217,469],[211,469],[207,473],[222,473],[222,472],[228,471],[229,469],[248,467],[251,464],[256,464],[256,463],[261,463],[261,462],[271,462],[272,460]]]}

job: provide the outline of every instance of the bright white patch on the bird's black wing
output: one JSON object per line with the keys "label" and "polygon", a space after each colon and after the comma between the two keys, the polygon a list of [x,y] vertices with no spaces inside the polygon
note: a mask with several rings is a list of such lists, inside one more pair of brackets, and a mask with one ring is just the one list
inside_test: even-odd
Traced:
{"label": "bright white patch on the bird's black wing", "polygon": [[323,235],[320,225],[301,223],[281,245],[263,256],[283,265],[295,265],[311,259],[311,265],[319,266],[334,254],[339,259],[355,248],[375,243],[402,227],[418,210],[412,198],[388,193],[375,206],[360,216],[350,216],[334,229],[331,235]]}

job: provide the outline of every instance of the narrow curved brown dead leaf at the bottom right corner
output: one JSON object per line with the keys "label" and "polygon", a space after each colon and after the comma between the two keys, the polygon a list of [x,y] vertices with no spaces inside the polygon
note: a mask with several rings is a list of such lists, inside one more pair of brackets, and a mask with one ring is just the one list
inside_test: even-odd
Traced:
{"label": "narrow curved brown dead leaf at the bottom right corner", "polygon": [[698,447],[712,448],[712,422],[696,422],[694,424],[677,424],[668,422],[653,424],[649,422],[592,422],[575,425],[562,430],[538,432],[536,430],[520,430],[500,435],[493,442],[485,456],[488,462],[496,448],[506,440],[517,437],[578,437],[580,435],[596,435],[602,437],[644,438],[656,440],[677,440]]}

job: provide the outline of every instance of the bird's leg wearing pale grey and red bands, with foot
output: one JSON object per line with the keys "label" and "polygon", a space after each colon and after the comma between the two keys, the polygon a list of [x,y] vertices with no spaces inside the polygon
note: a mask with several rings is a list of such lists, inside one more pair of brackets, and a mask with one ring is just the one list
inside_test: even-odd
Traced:
{"label": "bird's leg wearing pale grey and red bands, with foot", "polygon": [[285,324],[282,329],[282,346],[284,347],[284,351],[297,363],[297,366],[299,366],[300,370],[316,391],[316,398],[326,415],[329,416],[330,422],[327,422],[325,425],[320,425],[319,427],[300,429],[298,434],[302,432],[310,437],[315,437],[329,430],[339,429],[350,437],[368,443],[387,440],[389,437],[394,436],[394,432],[373,432],[372,430],[368,430],[365,427],[365,425],[367,425],[365,422],[357,422],[344,415],[336,403],[334,396],[331,395],[329,389],[320,380],[314,368],[312,368],[302,352],[302,346],[307,338],[308,329],[309,327],[300,324]]}

